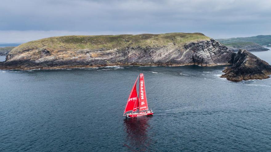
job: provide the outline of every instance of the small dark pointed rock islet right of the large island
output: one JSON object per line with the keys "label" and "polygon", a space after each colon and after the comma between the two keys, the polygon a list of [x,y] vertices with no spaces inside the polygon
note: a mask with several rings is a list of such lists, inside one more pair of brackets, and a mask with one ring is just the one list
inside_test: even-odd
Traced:
{"label": "small dark pointed rock islet right of the large island", "polygon": [[267,79],[271,75],[271,65],[246,50],[233,54],[233,66],[223,70],[221,77],[230,81]]}

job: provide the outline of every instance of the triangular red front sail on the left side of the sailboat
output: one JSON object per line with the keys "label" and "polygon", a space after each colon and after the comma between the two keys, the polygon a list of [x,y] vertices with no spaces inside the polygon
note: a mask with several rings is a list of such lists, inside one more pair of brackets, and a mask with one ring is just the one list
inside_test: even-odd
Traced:
{"label": "triangular red front sail on the left side of the sailboat", "polygon": [[136,79],[136,82],[135,82],[135,84],[134,84],[134,86],[133,86],[133,88],[131,90],[131,93],[129,95],[129,98],[127,100],[127,104],[126,104],[126,107],[125,107],[123,115],[126,112],[128,112],[128,111],[132,111],[134,109],[136,101],[138,101],[137,92],[136,92],[136,83],[137,83],[137,80],[138,80],[138,77]]}

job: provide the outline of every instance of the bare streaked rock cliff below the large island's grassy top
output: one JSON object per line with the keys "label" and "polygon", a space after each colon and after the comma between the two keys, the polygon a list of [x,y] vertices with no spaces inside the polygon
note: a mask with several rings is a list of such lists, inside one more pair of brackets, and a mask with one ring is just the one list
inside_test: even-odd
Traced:
{"label": "bare streaked rock cliff below the large island's grassy top", "polygon": [[[123,40],[124,41],[124,40]],[[127,41],[127,40],[126,40]],[[172,40],[173,41],[173,40]],[[49,47],[28,47],[10,52],[2,69],[50,69],[99,67],[106,65],[201,65],[229,64],[233,51],[213,40],[168,45],[127,45],[112,49],[54,50]]]}

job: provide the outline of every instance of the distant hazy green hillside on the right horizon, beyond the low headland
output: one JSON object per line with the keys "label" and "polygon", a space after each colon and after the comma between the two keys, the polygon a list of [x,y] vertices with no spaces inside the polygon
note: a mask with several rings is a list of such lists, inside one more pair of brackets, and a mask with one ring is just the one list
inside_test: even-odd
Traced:
{"label": "distant hazy green hillside on the right horizon, beyond the low headland", "polygon": [[217,39],[222,44],[227,45],[230,43],[239,43],[239,42],[254,42],[258,45],[271,46],[271,35],[258,35],[254,37],[237,37],[237,38],[228,38],[228,39]]}

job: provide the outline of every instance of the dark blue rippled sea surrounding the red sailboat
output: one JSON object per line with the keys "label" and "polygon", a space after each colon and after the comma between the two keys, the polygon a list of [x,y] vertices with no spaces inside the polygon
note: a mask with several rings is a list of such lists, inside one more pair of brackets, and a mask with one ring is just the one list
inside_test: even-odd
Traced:
{"label": "dark blue rippled sea surrounding the red sailboat", "polygon": [[[0,151],[271,151],[271,79],[223,68],[0,70]],[[125,119],[140,72],[155,114]]]}

